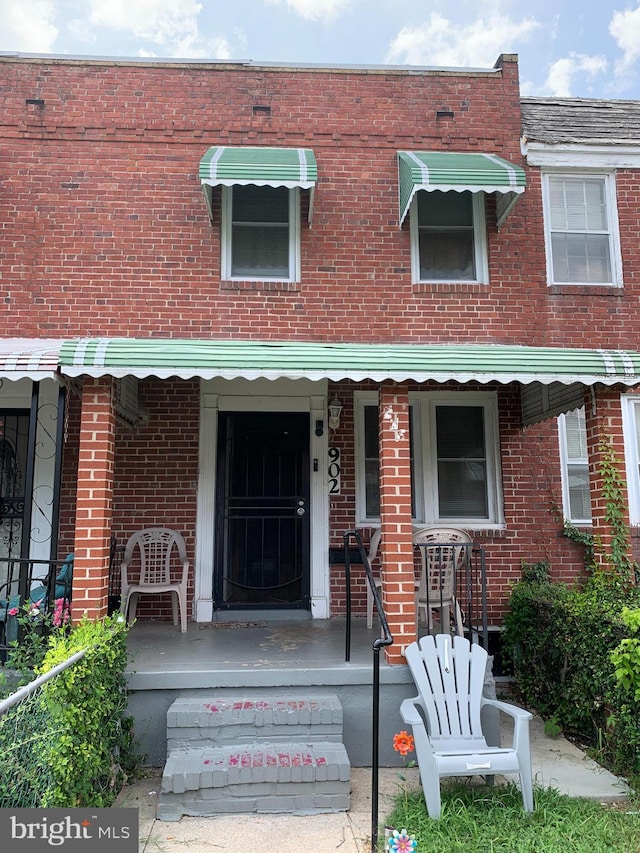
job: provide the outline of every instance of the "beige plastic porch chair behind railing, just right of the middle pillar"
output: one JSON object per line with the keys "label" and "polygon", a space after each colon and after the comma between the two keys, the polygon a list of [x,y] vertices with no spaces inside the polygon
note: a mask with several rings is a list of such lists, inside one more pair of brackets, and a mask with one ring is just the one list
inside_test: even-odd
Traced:
{"label": "beige plastic porch chair behind railing, just right of the middle pillar", "polygon": [[[433,630],[432,612],[440,614],[440,630],[449,629],[451,608],[456,623],[456,633],[464,635],[462,611],[456,598],[456,578],[469,556],[472,538],[457,527],[424,527],[414,531],[413,544],[419,547],[422,571],[416,592],[416,616],[424,611],[424,621],[429,632]],[[462,547],[456,547],[456,544]],[[426,546],[426,547],[425,547]]]}

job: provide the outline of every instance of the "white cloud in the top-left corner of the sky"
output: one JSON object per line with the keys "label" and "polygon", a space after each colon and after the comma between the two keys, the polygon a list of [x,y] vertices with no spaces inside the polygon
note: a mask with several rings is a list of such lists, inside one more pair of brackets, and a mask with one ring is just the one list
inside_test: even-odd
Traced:
{"label": "white cloud in the top-left corner of the sky", "polygon": [[3,0],[0,4],[0,50],[51,53],[58,28],[53,0]]}

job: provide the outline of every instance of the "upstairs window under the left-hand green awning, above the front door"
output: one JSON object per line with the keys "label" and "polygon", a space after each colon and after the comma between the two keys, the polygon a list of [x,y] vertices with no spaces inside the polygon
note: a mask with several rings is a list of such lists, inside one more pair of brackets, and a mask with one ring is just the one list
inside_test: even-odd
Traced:
{"label": "upstairs window under the left-hand green awning, above the front door", "polygon": [[224,187],[223,209],[223,278],[299,279],[297,189]]}

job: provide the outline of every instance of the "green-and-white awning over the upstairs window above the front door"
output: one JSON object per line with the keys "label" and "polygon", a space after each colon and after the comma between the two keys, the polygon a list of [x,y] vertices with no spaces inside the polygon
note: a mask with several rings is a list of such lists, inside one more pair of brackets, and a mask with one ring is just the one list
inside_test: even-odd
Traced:
{"label": "green-and-white awning over the upstairs window above the front door", "polygon": [[[318,165],[310,148],[214,146],[200,160],[199,174],[203,188],[254,184],[258,187],[300,187],[310,190],[311,221]],[[205,198],[210,208],[210,196],[206,192]]]}

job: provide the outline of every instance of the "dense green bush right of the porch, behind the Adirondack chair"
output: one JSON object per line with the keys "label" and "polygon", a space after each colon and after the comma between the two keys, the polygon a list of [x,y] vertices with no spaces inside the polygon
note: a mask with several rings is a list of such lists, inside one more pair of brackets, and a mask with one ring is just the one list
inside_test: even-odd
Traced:
{"label": "dense green bush right of the porch, behind the Adirondack chair", "polygon": [[504,620],[522,701],[627,777],[640,773],[640,670],[638,682],[625,685],[612,653],[629,635],[622,614],[634,604],[640,606],[640,588],[607,575],[594,575],[580,589],[525,572]]}

